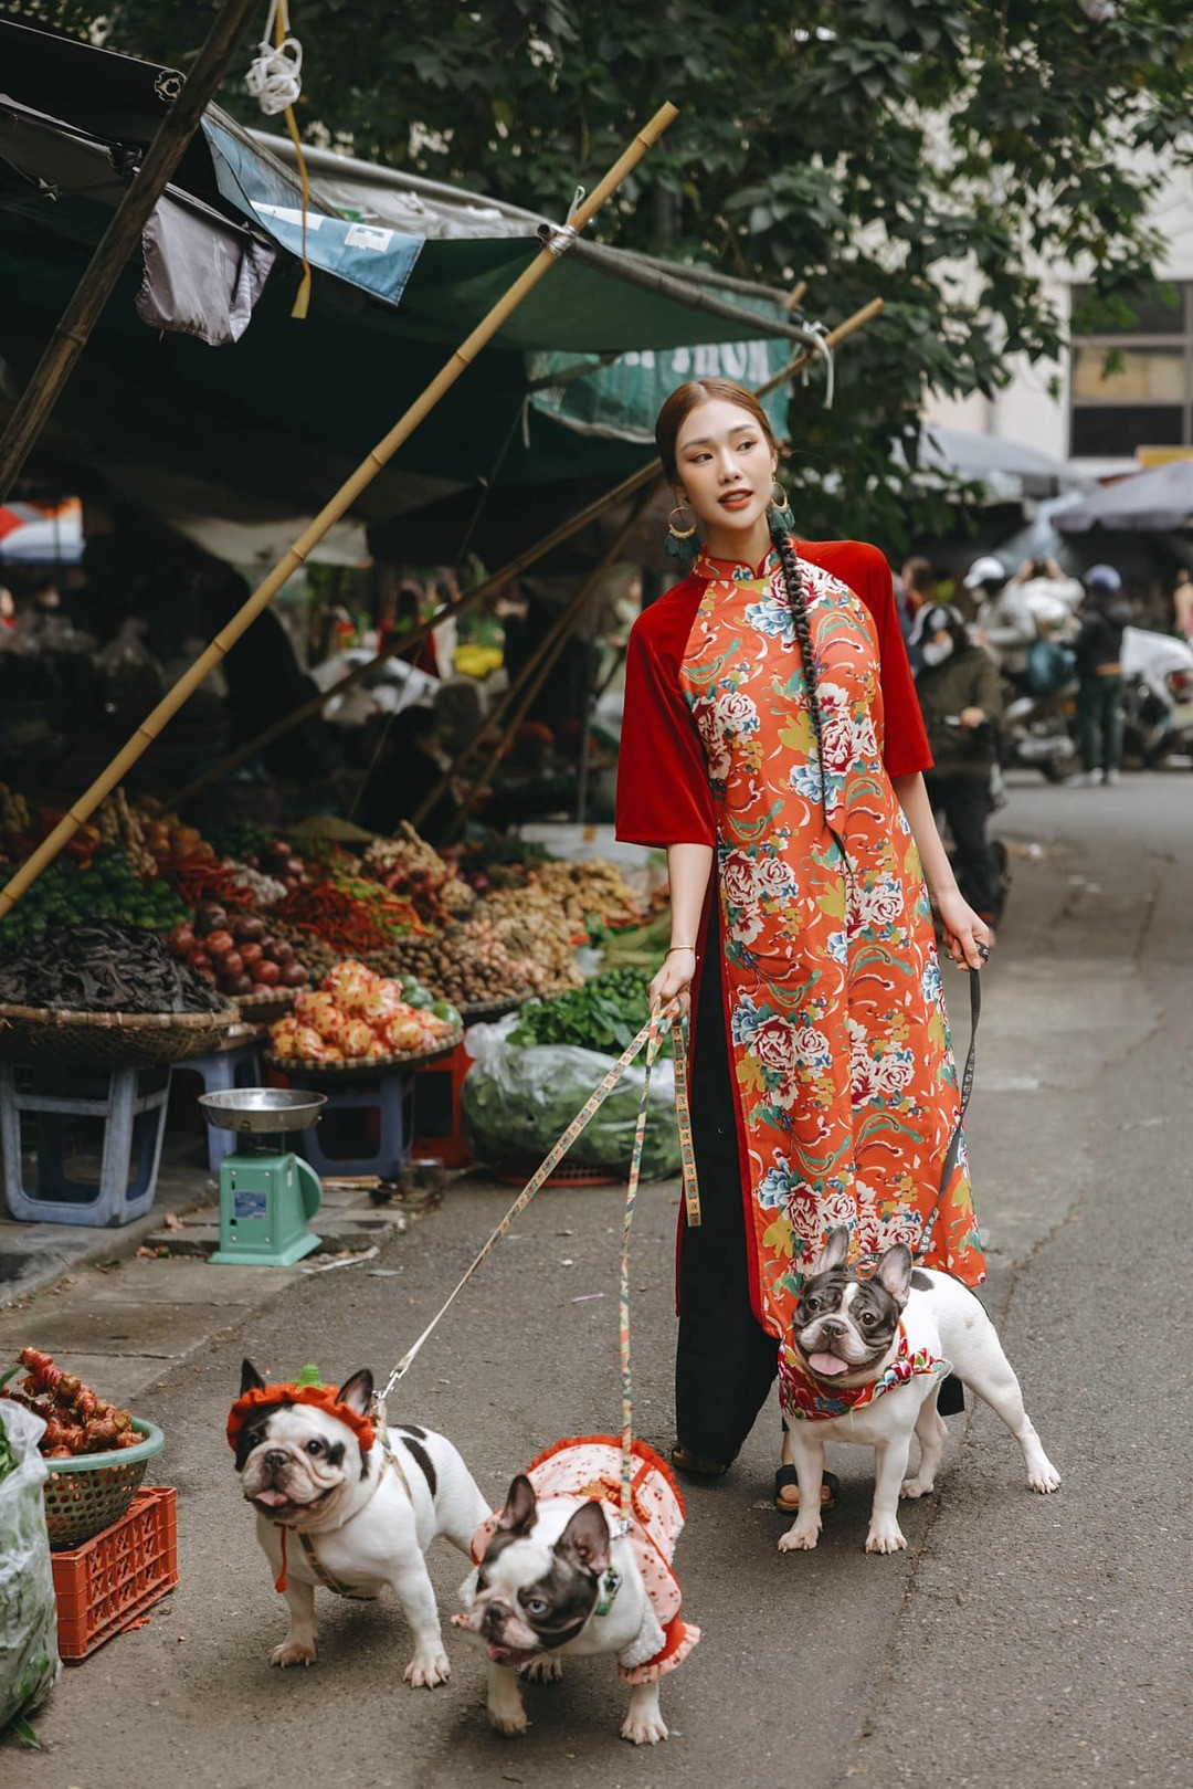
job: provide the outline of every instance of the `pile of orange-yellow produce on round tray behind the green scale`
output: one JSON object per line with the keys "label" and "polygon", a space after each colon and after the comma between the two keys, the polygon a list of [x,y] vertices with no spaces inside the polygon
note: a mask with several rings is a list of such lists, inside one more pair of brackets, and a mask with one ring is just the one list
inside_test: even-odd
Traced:
{"label": "pile of orange-yellow produce on round tray behind the green scale", "polygon": [[413,979],[390,980],[349,959],[299,995],[292,1016],[270,1029],[270,1048],[281,1061],[368,1063],[447,1048],[458,1032],[460,1013]]}

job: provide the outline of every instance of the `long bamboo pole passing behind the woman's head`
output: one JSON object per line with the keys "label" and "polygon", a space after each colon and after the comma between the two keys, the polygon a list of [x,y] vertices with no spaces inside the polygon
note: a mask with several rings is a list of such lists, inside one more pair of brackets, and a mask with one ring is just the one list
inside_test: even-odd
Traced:
{"label": "long bamboo pole passing behind the woman's head", "polygon": [[[846,317],[842,324],[832,329],[825,336],[825,345],[830,349],[837,347],[841,342],[848,340],[848,336],[851,336],[857,329],[862,329],[867,322],[871,322],[882,311],[882,308],[884,308],[882,299],[871,299],[869,304],[864,304],[862,309],[855,311],[851,317]],[[767,397],[787,379],[794,379],[796,374],[810,367],[817,358],[819,358],[817,354],[810,352],[798,354],[792,361],[789,361],[782,369],[782,372],[773,374],[760,386],[757,386],[755,397]],[[622,503],[626,497],[633,497],[635,492],[642,490],[642,487],[649,483],[653,478],[656,478],[656,474],[658,474],[658,460],[649,460],[646,465],[639,467],[637,472],[631,472],[628,478],[622,478],[619,485],[613,485],[612,490],[606,490],[601,497],[594,497],[592,503],[587,503],[583,510],[576,510],[572,517],[569,517],[565,522],[560,522],[558,528],[553,528],[549,535],[542,537],[542,540],[537,540],[533,546],[524,547],[520,553],[517,553],[512,560],[508,560],[508,564],[501,567],[501,571],[495,571],[492,578],[485,578],[483,583],[478,583],[474,590],[469,590],[465,596],[456,598],[454,603],[445,603],[442,608],[436,608],[433,615],[429,615],[426,621],[420,621],[419,626],[411,628],[410,633],[404,633],[401,639],[386,642],[386,646],[376,655],[376,658],[368,658],[363,666],[354,666],[351,671],[345,671],[343,676],[331,685],[331,689],[320,691],[318,696],[311,696],[309,701],[300,703],[290,714],[284,714],[279,721],[270,723],[270,726],[263,728],[252,739],[245,741],[243,746],[238,746],[234,751],[229,751],[227,757],[218,760],[218,764],[213,764],[200,776],[195,776],[193,782],[186,784],[184,789],[175,791],[168,798],[166,807],[172,809],[182,807],[184,801],[190,801],[197,794],[202,794],[202,791],[209,789],[211,784],[220,780],[220,776],[227,776],[229,771],[240,769],[240,766],[247,764],[249,759],[258,755],[258,751],[265,751],[265,748],[272,746],[275,739],[283,739],[293,726],[300,726],[302,721],[309,721],[317,714],[320,714],[322,708],[326,708],[326,705],[334,696],[343,696],[351,689],[356,689],[358,683],[367,682],[367,678],[370,678],[376,671],[379,671],[381,666],[386,664],[390,658],[397,658],[411,646],[417,646],[420,640],[427,637],[427,633],[438,628],[444,621],[451,621],[454,615],[460,615],[467,608],[472,608],[476,603],[483,601],[483,598],[492,596],[495,590],[504,589],[504,585],[508,585],[513,578],[520,576],[520,572],[528,571],[531,565],[537,565],[538,560],[546,558],[547,553],[551,553],[554,547],[562,546],[565,540],[571,540],[572,535],[578,535],[581,528],[588,526],[588,522],[596,522],[601,515],[605,515],[606,510],[612,510],[613,504]]]}

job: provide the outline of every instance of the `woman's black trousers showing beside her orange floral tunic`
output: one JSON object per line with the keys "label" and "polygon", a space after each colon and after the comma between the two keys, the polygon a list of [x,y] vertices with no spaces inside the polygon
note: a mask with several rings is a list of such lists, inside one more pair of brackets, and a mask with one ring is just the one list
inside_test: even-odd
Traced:
{"label": "woman's black trousers showing beside her orange floral tunic", "polygon": [[742,1168],[721,989],[714,903],[692,1057],[701,1225],[681,1229],[676,1349],[676,1435],[687,1453],[712,1465],[737,1458],[778,1372],[778,1342],[749,1306]]}

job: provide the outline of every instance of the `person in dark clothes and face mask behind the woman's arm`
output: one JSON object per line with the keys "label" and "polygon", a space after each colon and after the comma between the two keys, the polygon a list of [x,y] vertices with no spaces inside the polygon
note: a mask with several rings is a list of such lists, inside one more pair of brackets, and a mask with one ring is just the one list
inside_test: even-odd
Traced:
{"label": "person in dark clothes and face mask behind the woman's arm", "polygon": [[923,667],[916,694],[934,759],[925,785],[953,835],[957,880],[989,923],[998,903],[998,866],[986,827],[994,805],[1002,685],[991,655],[969,642],[957,610],[937,603],[918,621]]}

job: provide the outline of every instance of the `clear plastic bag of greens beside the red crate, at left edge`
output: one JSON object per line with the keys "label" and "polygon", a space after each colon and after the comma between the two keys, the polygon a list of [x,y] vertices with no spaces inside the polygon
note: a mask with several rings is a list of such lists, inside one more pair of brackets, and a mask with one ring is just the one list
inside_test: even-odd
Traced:
{"label": "clear plastic bag of greens beside the red crate, at left edge", "polygon": [[29,1716],[57,1683],[57,1605],[38,1453],[45,1431],[32,1410],[0,1397],[0,1424],[16,1471],[0,1480],[0,1730]]}

